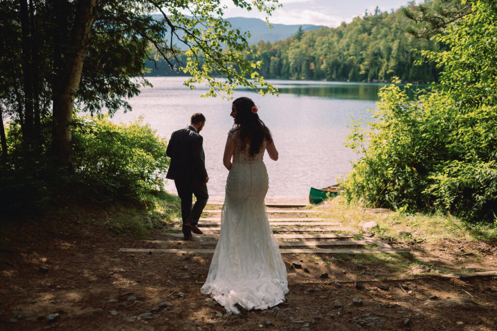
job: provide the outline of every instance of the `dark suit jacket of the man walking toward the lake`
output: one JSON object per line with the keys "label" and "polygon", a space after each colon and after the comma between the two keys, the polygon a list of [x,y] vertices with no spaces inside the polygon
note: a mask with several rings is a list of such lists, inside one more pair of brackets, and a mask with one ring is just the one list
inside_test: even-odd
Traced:
{"label": "dark suit jacket of the man walking toward the lake", "polygon": [[172,132],[166,150],[171,158],[166,178],[202,182],[207,178],[203,140],[191,125]]}

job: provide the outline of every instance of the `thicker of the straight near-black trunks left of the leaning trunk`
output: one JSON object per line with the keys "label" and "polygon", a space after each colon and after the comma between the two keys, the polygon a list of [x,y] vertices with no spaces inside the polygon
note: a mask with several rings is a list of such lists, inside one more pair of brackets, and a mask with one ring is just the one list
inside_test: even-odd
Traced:
{"label": "thicker of the straight near-black trunks left of the leaning trunk", "polygon": [[20,0],[20,21],[22,30],[22,77],[24,83],[24,120],[25,132],[23,140],[28,145],[32,145],[34,138],[33,131],[33,71],[31,63],[31,36],[28,4],[26,0]]}

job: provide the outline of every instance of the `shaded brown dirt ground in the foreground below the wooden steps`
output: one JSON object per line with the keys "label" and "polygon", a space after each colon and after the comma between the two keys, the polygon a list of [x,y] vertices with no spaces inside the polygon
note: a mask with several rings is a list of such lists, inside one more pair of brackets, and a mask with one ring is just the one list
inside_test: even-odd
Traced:
{"label": "shaded brown dirt ground in the foreground below the wooden steps", "polygon": [[[199,292],[211,254],[119,252],[122,247],[156,245],[113,235],[106,227],[78,217],[53,221],[64,228],[46,222],[2,229],[2,330],[491,331],[497,327],[495,277],[436,278],[437,271],[495,270],[497,248],[490,243],[445,239],[391,244],[409,249],[410,255],[284,254],[290,288],[286,302],[266,311],[227,315]],[[165,233],[157,230],[146,239],[163,237]],[[295,269],[293,262],[303,268]],[[321,278],[324,273],[328,278]]]}

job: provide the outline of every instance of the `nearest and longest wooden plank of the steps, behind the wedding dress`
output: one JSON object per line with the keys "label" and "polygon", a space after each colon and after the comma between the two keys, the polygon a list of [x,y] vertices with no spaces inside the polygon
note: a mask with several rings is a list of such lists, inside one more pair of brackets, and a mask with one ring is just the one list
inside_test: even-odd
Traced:
{"label": "nearest and longest wooden plank of the steps, behind the wedding dress", "polygon": [[[161,248],[120,248],[120,252],[132,253],[197,253],[197,254],[212,254],[214,249],[161,249]],[[296,248],[296,249],[280,249],[281,254],[295,254],[295,253],[314,253],[314,254],[379,254],[379,253],[409,253],[407,249],[396,248],[336,248],[336,249],[323,249],[323,248]]]}

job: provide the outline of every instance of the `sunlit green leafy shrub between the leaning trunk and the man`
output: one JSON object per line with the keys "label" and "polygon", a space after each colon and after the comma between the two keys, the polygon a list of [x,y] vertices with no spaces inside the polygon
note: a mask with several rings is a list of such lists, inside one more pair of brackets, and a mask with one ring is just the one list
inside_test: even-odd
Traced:
{"label": "sunlit green leafy shrub between the leaning trunk and the man", "polygon": [[[164,188],[166,139],[143,119],[113,124],[107,116],[79,117],[73,130],[76,179],[100,200],[138,198]],[[93,195],[93,194],[92,194]]]}

